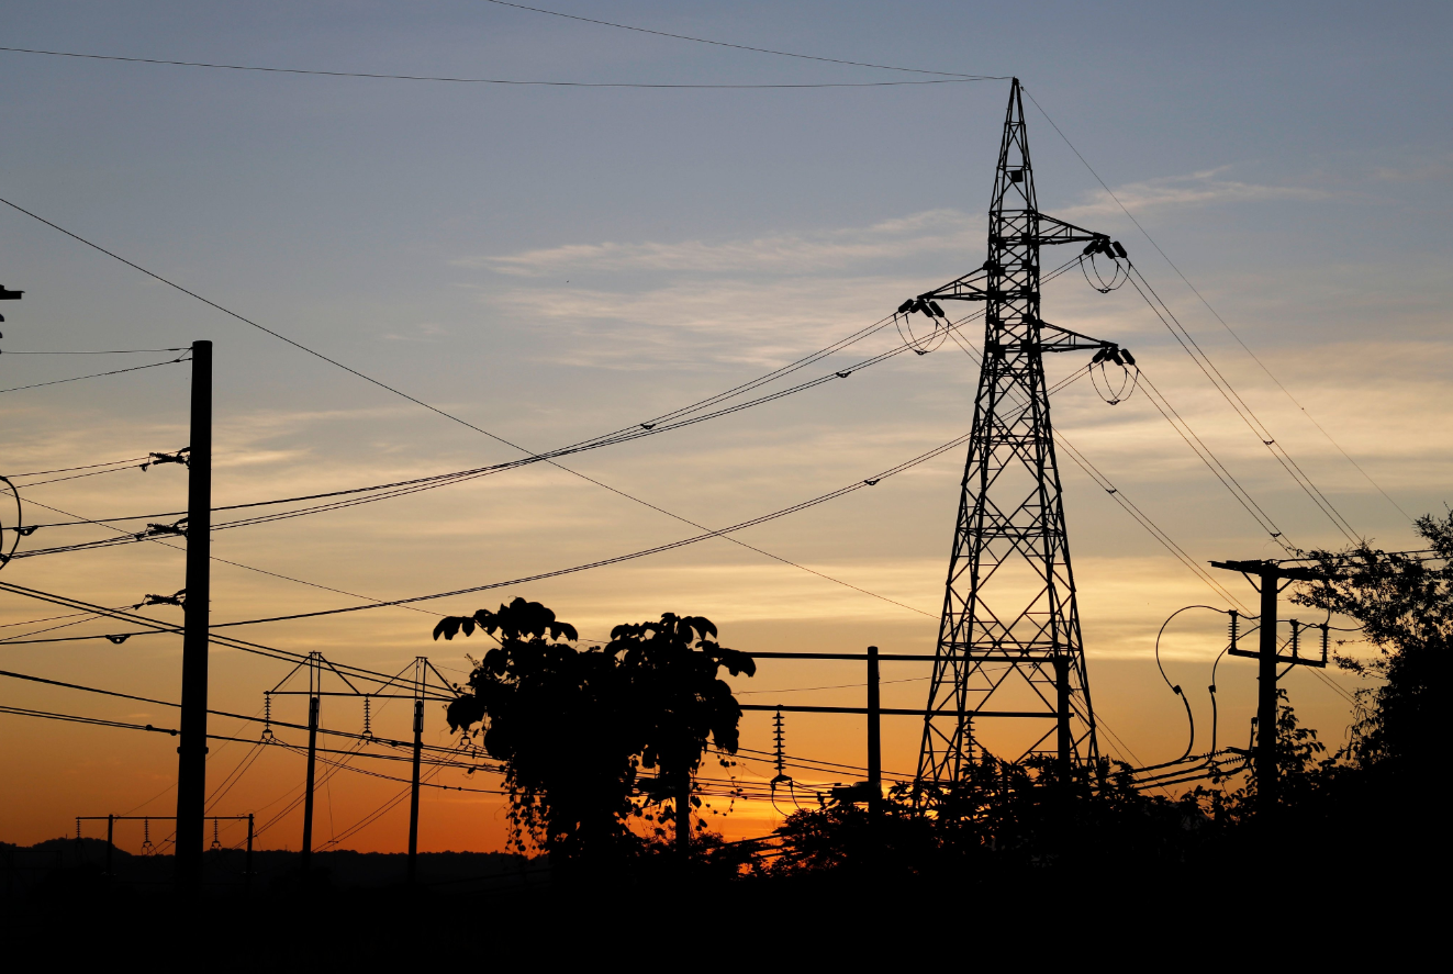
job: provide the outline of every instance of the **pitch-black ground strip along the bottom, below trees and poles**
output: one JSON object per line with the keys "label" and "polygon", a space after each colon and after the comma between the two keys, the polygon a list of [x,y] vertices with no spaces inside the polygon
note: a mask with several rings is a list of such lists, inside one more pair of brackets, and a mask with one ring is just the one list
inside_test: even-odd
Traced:
{"label": "pitch-black ground strip along the bottom, below trees and poles", "polygon": [[[1295,840],[1293,840],[1295,843]],[[1433,861],[1375,878],[1345,850],[1287,850],[1251,862],[1116,875],[1032,869],[953,881],[883,874],[792,880],[686,875],[562,882],[541,859],[506,853],[405,856],[209,853],[208,884],[179,897],[170,856],[57,839],[0,846],[0,942],[46,967],[122,961],[219,971],[407,964],[493,971],[571,967],[742,968],[894,962],[1229,967],[1375,961],[1404,967],[1440,938]],[[1418,875],[1428,882],[1420,882]],[[36,951],[39,951],[36,954]],[[32,964],[7,965],[28,970]],[[129,964],[128,964],[129,967]]]}

